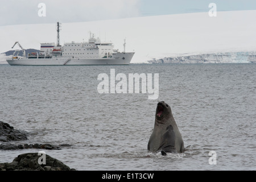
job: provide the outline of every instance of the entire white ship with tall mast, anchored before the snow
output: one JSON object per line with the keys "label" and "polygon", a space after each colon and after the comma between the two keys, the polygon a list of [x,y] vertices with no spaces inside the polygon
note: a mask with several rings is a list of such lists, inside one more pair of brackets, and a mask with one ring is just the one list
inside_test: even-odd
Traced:
{"label": "entire white ship with tall mast, anchored before the snow", "polygon": [[[23,50],[23,56],[15,56],[6,61],[10,65],[129,65],[134,52],[119,52],[113,49],[112,42],[101,42],[99,38],[94,38],[90,34],[88,42],[64,43],[60,46],[59,39],[60,23],[57,23],[57,45],[55,43],[42,43],[40,52],[30,53],[26,56]],[[14,47],[13,46],[13,47]]]}

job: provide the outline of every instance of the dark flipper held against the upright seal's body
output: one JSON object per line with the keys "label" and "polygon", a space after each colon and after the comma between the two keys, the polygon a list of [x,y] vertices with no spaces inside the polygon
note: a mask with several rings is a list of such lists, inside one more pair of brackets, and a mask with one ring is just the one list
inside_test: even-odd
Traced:
{"label": "dark flipper held against the upright seal's body", "polygon": [[166,156],[167,152],[177,153],[175,148],[175,132],[174,127],[172,125],[167,126],[166,131],[161,136],[160,147],[158,150],[161,151],[161,154]]}

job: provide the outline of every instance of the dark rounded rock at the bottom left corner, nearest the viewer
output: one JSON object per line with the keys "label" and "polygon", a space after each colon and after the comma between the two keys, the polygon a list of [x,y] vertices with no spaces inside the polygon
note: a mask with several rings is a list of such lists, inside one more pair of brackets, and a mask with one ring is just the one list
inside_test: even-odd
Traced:
{"label": "dark rounded rock at the bottom left corner, nearest the viewer", "polygon": [[[0,171],[75,171],[60,160],[45,155],[45,164],[41,163],[38,153],[20,154],[11,163],[0,163]],[[39,159],[40,158],[40,159]]]}

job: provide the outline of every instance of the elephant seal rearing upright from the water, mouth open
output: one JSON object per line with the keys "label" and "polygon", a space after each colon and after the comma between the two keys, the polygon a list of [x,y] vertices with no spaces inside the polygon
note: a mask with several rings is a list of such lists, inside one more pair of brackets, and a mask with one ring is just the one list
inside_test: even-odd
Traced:
{"label": "elephant seal rearing upright from the water, mouth open", "polygon": [[152,152],[161,151],[162,155],[166,155],[166,152],[184,152],[184,142],[171,107],[164,101],[159,102],[156,107],[155,125],[148,140],[147,149]]}

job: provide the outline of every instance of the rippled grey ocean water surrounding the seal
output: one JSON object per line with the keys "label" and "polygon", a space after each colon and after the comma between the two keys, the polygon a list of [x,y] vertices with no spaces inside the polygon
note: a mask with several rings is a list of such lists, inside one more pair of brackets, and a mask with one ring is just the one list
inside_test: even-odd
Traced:
{"label": "rippled grey ocean water surrounding the seal", "polygon": [[[159,73],[158,99],[98,93],[97,77],[110,76],[110,69],[127,76]],[[30,133],[28,140],[12,143],[72,144],[44,150],[71,168],[256,169],[256,64],[0,65],[0,80],[0,121]],[[171,106],[183,154],[147,151],[159,101]],[[39,151],[1,150],[0,163]]]}

